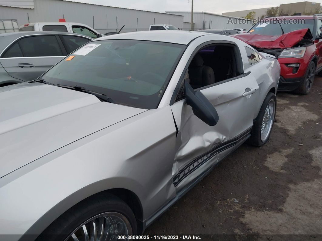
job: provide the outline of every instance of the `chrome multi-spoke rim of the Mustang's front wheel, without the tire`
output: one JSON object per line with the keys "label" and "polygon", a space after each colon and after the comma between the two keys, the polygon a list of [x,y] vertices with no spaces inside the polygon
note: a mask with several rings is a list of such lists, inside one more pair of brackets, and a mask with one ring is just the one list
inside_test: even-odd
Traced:
{"label": "chrome multi-spoke rim of the Mustang's front wheel, without the tire", "polygon": [[110,241],[118,236],[132,235],[128,219],[120,213],[107,212],[85,221],[77,227],[65,241]]}

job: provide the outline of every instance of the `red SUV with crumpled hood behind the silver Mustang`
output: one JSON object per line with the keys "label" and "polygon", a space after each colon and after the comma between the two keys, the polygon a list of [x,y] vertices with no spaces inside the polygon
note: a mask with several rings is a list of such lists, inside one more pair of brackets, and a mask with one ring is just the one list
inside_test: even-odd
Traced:
{"label": "red SUV with crumpled hood behind the silver Mustang", "polygon": [[[285,19],[286,23],[281,24],[257,23],[248,33],[235,38],[278,59],[280,91],[295,90],[305,95],[312,88],[315,73],[322,76],[322,14],[286,16]],[[305,23],[289,24],[290,20],[299,19],[304,19]]]}

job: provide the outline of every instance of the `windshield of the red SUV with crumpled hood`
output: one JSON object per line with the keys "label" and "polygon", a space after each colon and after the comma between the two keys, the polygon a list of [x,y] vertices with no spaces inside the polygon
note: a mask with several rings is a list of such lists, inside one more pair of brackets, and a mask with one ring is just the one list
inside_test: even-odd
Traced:
{"label": "windshield of the red SUV with crumpled hood", "polygon": [[282,35],[281,27],[283,28],[284,33],[292,32],[294,30],[309,28],[313,34],[313,19],[305,19],[305,23],[292,23],[289,24],[289,20],[285,20],[285,23],[256,23],[248,32],[256,33],[261,35]]}

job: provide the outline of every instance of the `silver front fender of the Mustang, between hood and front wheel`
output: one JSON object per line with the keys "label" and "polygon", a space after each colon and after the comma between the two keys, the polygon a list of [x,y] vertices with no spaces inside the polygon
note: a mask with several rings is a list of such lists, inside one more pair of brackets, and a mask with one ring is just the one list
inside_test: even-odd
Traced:
{"label": "silver front fender of the Mustang, between hood and front wheel", "polygon": [[146,219],[175,196],[175,133],[169,106],[148,110],[6,175],[0,235],[33,240],[76,203],[112,188],[134,192]]}

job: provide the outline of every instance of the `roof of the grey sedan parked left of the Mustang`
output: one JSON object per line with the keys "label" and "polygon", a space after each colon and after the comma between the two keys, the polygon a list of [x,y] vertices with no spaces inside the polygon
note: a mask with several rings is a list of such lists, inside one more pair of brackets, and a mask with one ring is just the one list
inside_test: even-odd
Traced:
{"label": "roof of the grey sedan parked left of the Mustang", "polygon": [[76,35],[81,37],[86,37],[92,39],[86,35],[72,33],[72,32],[54,32],[54,31],[20,31],[20,32],[7,32],[0,33],[0,52],[5,49],[10,43],[12,43],[17,38],[27,36],[27,35],[39,35],[39,34],[65,34],[65,35]]}

